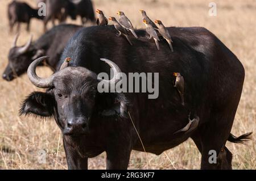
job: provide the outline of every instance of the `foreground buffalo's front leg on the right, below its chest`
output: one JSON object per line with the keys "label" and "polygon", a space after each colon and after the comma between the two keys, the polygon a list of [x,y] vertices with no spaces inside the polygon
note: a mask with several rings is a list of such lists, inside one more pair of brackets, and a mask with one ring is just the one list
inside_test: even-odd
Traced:
{"label": "foreground buffalo's front leg on the right, below its chest", "polygon": [[106,151],[106,155],[107,155],[106,169],[107,170],[127,169],[129,165],[130,154],[131,154],[131,147],[128,145],[130,144],[126,144],[122,142],[122,144],[118,146],[112,145],[112,148]]}

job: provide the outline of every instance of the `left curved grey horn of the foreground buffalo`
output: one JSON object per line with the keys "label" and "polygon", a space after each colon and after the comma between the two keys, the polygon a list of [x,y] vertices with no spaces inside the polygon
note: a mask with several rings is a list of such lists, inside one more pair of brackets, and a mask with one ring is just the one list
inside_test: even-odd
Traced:
{"label": "left curved grey horn of the foreground buffalo", "polygon": [[40,57],[33,61],[30,66],[27,69],[28,78],[30,79],[31,83],[35,85],[36,87],[40,88],[48,88],[52,86],[52,80],[55,77],[55,75],[51,75],[48,78],[40,78],[38,75],[36,75],[36,66],[40,64],[43,60],[49,58],[48,56]]}

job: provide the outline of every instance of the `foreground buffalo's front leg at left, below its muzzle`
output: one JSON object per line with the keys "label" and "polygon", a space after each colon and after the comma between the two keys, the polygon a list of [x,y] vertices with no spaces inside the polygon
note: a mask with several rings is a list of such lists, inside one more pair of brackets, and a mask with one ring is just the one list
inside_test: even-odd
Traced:
{"label": "foreground buffalo's front leg at left, below its muzzle", "polygon": [[71,145],[68,145],[63,138],[63,145],[66,154],[69,170],[87,170],[88,169],[88,157],[81,157],[77,150],[73,149]]}

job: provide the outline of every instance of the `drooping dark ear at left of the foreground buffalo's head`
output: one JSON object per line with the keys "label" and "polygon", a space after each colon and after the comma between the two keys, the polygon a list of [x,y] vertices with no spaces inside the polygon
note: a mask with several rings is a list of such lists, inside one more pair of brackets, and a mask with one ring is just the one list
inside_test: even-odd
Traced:
{"label": "drooping dark ear at left of the foreground buffalo's head", "polygon": [[34,114],[48,117],[53,115],[55,99],[47,92],[32,92],[22,102],[20,115]]}

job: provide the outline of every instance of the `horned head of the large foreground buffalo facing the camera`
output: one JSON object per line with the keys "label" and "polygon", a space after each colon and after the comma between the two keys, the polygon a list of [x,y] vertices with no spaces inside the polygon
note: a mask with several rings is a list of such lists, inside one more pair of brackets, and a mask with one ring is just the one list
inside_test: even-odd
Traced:
{"label": "horned head of the large foreground buffalo facing the camera", "polygon": [[27,73],[35,86],[47,88],[47,91],[33,92],[28,96],[20,113],[54,116],[63,134],[80,135],[89,132],[92,117],[100,112],[106,112],[109,105],[119,105],[118,110],[123,109],[123,102],[117,104],[117,97],[115,100],[106,96],[103,98],[102,93],[97,91],[99,81],[106,81],[110,85],[119,81],[117,74],[120,70],[114,62],[104,59],[114,70],[114,77],[110,80],[99,80],[93,71],[71,66],[57,71],[48,78],[40,78],[36,75],[35,69],[46,58],[40,57],[32,62]]}

